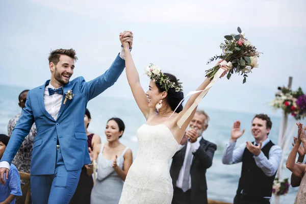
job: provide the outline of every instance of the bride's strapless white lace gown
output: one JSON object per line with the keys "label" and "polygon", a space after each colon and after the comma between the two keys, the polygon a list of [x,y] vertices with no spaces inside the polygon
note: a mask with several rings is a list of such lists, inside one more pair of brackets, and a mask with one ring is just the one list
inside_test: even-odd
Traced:
{"label": "bride's strapless white lace gown", "polygon": [[119,204],[170,204],[169,162],[179,144],[164,124],[143,124],[137,139],[137,157],[127,172]]}

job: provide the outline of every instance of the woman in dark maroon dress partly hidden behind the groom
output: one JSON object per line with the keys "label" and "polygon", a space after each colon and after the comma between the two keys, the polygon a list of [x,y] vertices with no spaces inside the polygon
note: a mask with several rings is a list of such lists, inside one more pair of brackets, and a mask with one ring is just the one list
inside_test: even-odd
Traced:
{"label": "woman in dark maroon dress partly hidden behind the groom", "polygon": [[[90,149],[89,152],[91,152],[91,149],[94,151],[94,148],[96,148],[97,145],[101,144],[101,139],[98,135],[88,132],[88,126],[90,121],[91,121],[91,115],[89,110],[86,109],[84,116],[84,123],[85,123],[86,135],[88,138],[87,144],[88,148]],[[90,203],[90,194],[93,187],[93,179],[91,175],[92,175],[91,168],[88,168],[86,165],[83,166],[77,190],[75,190],[75,193],[70,200],[71,204]]]}

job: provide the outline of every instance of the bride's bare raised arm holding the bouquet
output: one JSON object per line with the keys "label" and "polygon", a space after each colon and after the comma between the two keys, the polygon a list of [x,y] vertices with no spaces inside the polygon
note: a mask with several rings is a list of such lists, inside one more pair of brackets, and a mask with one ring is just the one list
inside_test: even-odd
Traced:
{"label": "bride's bare raised arm holding the bouquet", "polygon": [[[219,63],[221,63],[223,60],[220,60]],[[224,72],[222,73],[221,77],[225,75],[225,73],[230,70],[230,67],[227,67],[226,65],[221,65],[220,68],[224,69]],[[205,81],[202,82],[202,84],[196,89],[196,91],[204,90],[210,83],[211,81],[206,78]],[[191,105],[194,103],[195,99],[201,94],[199,93],[194,93],[190,96],[190,98],[187,100],[186,105],[184,106],[183,110],[177,114],[176,116],[176,121],[179,121],[181,117],[186,113],[186,111],[191,107]],[[188,119],[183,123],[182,125],[182,130],[186,130],[187,126],[189,125],[190,121],[192,120],[194,114],[196,112],[196,108],[192,111],[191,115],[188,117]]]}

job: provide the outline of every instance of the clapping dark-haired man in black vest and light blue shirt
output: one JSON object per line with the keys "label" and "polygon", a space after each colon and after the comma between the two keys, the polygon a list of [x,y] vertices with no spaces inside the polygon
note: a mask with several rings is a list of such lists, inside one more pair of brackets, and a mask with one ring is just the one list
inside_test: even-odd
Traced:
{"label": "clapping dark-haired man in black vest and light blue shirt", "polygon": [[240,121],[234,122],[230,142],[225,145],[223,164],[242,162],[241,177],[234,204],[270,203],[272,185],[282,158],[281,147],[275,145],[268,135],[272,122],[266,114],[258,114],[252,120],[251,133],[254,142],[244,142],[235,148],[240,131]]}

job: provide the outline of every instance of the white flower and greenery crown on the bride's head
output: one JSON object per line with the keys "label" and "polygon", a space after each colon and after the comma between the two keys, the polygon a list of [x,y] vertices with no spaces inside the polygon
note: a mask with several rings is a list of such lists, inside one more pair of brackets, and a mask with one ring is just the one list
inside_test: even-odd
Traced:
{"label": "white flower and greenery crown on the bride's head", "polygon": [[[171,82],[170,78],[164,75],[161,69],[152,63],[144,69],[144,74],[148,75],[155,83],[159,83],[167,92],[169,88],[174,88],[176,92],[183,91],[181,82],[179,82],[178,85],[175,82]],[[179,81],[179,79],[177,81]]]}

